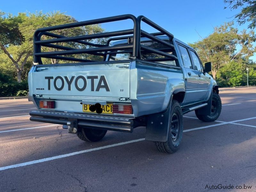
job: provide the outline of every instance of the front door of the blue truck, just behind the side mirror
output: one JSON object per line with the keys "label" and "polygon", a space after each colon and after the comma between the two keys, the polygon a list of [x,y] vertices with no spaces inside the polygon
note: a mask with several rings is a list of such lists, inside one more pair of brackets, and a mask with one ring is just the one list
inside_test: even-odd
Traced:
{"label": "front door of the blue truck, just behind the side mirror", "polygon": [[192,63],[194,64],[194,69],[197,71],[196,73],[198,75],[197,97],[201,101],[206,100],[209,92],[210,79],[204,74],[202,63],[200,62],[200,59],[197,56],[196,52],[189,49],[189,53],[192,58]]}

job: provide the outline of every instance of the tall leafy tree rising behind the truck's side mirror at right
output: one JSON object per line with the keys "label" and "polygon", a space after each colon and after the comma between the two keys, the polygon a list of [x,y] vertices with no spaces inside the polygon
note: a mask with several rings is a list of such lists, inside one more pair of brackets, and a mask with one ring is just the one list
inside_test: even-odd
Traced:
{"label": "tall leafy tree rising behind the truck's side mirror at right", "polygon": [[[219,69],[229,62],[248,60],[256,48],[253,47],[254,31],[238,33],[233,22],[215,27],[212,34],[190,46],[194,47],[202,62],[212,62],[212,76],[216,79]],[[236,50],[238,45],[240,50]]]}

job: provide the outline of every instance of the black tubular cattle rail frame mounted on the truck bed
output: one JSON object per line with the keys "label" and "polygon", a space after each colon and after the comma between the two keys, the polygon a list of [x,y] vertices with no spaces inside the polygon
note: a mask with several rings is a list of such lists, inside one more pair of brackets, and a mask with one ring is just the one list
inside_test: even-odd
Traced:
{"label": "black tubular cattle rail frame mounted on the truck bed", "polygon": [[[128,19],[133,21],[132,29],[90,34],[90,35],[71,36],[71,37],[62,36],[62,35],[58,35],[50,32],[50,31],[55,31],[60,29],[82,27],[82,26],[88,26],[93,24],[101,24],[101,23],[128,20]],[[159,32],[150,34],[146,31],[141,30],[140,29],[141,21],[155,28]],[[137,59],[141,59],[141,52],[147,52],[147,53],[155,53],[155,54],[164,56],[165,57],[163,58],[164,60],[166,60],[166,58],[168,58],[169,60],[177,60],[177,57],[175,56],[175,49],[173,44],[158,38],[157,36],[159,35],[168,36],[170,41],[172,41],[173,39],[173,35],[171,33],[166,31],[164,28],[158,26],[156,23],[149,20],[148,18],[144,16],[139,16],[136,18],[131,14],[119,15],[114,17],[106,17],[106,18],[88,20],[88,21],[81,21],[81,22],[46,27],[46,28],[39,28],[34,33],[34,63],[43,64],[41,59],[42,57],[50,58],[50,59],[58,59],[58,60],[88,62],[88,61],[94,61],[94,60],[84,59],[83,57],[74,58],[74,57],[71,57],[70,55],[85,53],[85,54],[102,56],[104,59],[106,59],[106,55],[113,52],[132,52],[132,57]],[[42,36],[46,36],[46,37],[48,36],[51,39],[41,40]],[[172,50],[174,54],[169,54],[167,52],[164,52],[163,49],[154,49],[148,46],[141,45],[140,44],[141,37],[147,37],[155,42],[158,42],[159,44],[164,45],[169,50]],[[108,38],[107,43],[96,44],[96,43],[87,41],[87,40],[100,39],[100,38]],[[124,40],[124,39],[128,40],[127,44],[117,45],[117,46],[109,45],[111,41]],[[129,40],[131,39],[132,41],[129,42]],[[60,45],[60,43],[64,43],[64,42],[73,42],[76,44],[89,45],[90,47],[77,49],[77,48]],[[42,47],[55,48],[60,51],[41,52]],[[63,55],[69,55],[70,57],[63,56]]]}

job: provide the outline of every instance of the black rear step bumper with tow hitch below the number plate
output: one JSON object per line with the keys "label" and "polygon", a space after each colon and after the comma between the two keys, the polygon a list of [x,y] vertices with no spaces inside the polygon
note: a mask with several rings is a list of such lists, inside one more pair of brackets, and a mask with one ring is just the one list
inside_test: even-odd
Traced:
{"label": "black rear step bumper with tow hitch below the number plate", "polygon": [[102,129],[121,132],[132,132],[134,126],[134,117],[125,116],[104,116],[99,114],[81,114],[56,111],[31,111],[29,113],[30,121],[43,123],[67,125],[71,122],[78,132],[81,128]]}

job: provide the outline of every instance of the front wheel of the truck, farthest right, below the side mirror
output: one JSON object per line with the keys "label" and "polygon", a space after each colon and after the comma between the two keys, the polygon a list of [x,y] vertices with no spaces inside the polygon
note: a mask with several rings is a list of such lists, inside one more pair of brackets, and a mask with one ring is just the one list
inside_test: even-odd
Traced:
{"label": "front wheel of the truck, farthest right, below the side mirror", "polygon": [[220,112],[221,112],[221,99],[219,94],[217,94],[216,92],[212,93],[212,108],[211,108],[211,115],[199,115],[198,111],[195,110],[196,113],[196,117],[204,122],[213,122],[215,120],[217,120],[220,116]]}

